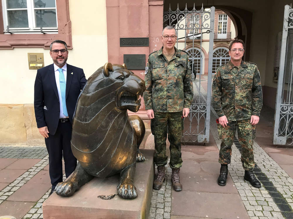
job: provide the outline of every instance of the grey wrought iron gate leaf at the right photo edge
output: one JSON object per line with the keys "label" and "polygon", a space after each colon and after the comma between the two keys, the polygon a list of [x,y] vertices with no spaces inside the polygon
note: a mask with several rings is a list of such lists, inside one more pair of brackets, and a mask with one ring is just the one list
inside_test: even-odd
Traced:
{"label": "grey wrought iron gate leaf at the right photo edge", "polygon": [[293,9],[285,6],[277,86],[274,144],[293,145]]}

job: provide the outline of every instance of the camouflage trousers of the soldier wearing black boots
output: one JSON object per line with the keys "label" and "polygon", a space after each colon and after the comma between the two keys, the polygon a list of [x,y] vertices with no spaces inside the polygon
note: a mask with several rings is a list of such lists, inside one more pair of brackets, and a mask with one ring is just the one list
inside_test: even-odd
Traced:
{"label": "camouflage trousers of the soldier wearing black boots", "polygon": [[219,138],[222,140],[219,163],[230,164],[231,146],[234,142],[236,128],[238,140],[241,144],[241,162],[244,170],[251,171],[254,168],[253,141],[255,139],[255,126],[251,125],[250,119],[240,121],[228,121],[226,127],[218,125]]}

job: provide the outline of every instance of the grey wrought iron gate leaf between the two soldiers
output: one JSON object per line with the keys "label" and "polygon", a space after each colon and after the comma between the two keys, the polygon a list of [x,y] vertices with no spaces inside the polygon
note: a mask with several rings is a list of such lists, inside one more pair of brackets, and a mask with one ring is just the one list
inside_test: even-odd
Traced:
{"label": "grey wrought iron gate leaf between the two soldiers", "polygon": [[[190,114],[184,119],[184,131],[182,142],[209,142],[209,122],[212,91],[212,60],[214,45],[214,12],[215,8],[209,10],[202,8],[197,11],[195,5],[191,11],[187,5],[180,11],[179,5],[175,11],[169,10],[163,14],[164,27],[172,25],[178,33],[176,48],[186,51],[189,60],[193,63],[192,72],[196,72],[196,79],[193,80],[193,103],[190,107]],[[206,36],[206,37],[205,37]],[[208,77],[204,78],[202,41],[203,37],[209,39],[209,63]],[[206,58],[206,57],[205,57]],[[194,79],[194,75],[192,76]],[[207,80],[207,91],[201,86],[202,81]]]}

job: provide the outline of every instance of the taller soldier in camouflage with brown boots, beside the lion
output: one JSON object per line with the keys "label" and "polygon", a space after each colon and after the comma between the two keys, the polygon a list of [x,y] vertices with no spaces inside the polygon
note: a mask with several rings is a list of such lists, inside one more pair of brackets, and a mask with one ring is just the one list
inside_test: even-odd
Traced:
{"label": "taller soldier in camouflage with brown boots, beside the lion", "polygon": [[174,47],[177,38],[176,29],[172,26],[165,27],[161,38],[163,47],[149,55],[145,71],[144,103],[147,116],[151,119],[151,132],[155,140],[154,163],[158,166],[158,175],[154,180],[153,188],[159,190],[165,179],[168,133],[172,185],[174,190],[181,191],[182,185],[179,179],[182,166],[181,135],[183,117],[188,116],[193,98],[191,69],[188,54]]}

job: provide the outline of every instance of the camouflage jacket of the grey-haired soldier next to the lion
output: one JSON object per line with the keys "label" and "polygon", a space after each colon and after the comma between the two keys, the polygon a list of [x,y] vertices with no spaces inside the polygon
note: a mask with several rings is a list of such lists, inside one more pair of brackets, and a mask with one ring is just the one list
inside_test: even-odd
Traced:
{"label": "camouflage jacket of the grey-haired soldier next to the lion", "polygon": [[144,78],[146,109],[155,112],[180,112],[189,108],[193,98],[191,69],[188,54],[175,48],[175,54],[168,62],[163,47],[149,55]]}

